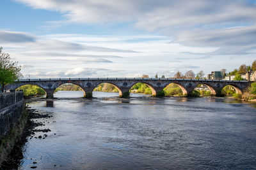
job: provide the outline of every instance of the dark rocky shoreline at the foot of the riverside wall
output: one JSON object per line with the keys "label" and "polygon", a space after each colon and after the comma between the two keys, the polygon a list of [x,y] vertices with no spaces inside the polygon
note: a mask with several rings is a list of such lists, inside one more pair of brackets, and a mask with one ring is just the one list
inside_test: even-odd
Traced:
{"label": "dark rocky shoreline at the foot of the riverside wall", "polygon": [[[28,103],[28,101],[26,101]],[[51,132],[51,129],[36,129],[36,127],[43,127],[44,121],[47,118],[51,118],[52,115],[40,113],[40,111],[31,109],[26,106],[26,111],[28,112],[27,123],[22,133],[22,136],[15,146],[13,147],[12,152],[8,155],[6,160],[1,165],[0,169],[18,169],[23,159],[22,149],[24,145],[28,142],[29,139],[39,138],[45,139],[47,138],[47,132]],[[37,120],[34,120],[37,119]],[[44,132],[43,136],[35,136],[36,132]],[[31,168],[36,168],[36,160],[31,165]]]}

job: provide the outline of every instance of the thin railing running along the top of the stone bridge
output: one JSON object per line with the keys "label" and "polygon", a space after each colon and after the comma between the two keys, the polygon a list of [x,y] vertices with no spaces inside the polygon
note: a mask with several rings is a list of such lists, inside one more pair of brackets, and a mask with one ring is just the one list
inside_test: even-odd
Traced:
{"label": "thin railing running along the top of the stone bridge", "polygon": [[171,80],[171,81],[221,81],[221,82],[248,82],[246,80],[209,80],[209,79],[188,79],[188,78],[37,78],[37,79],[20,79],[16,82],[25,81],[77,81],[77,80]]}

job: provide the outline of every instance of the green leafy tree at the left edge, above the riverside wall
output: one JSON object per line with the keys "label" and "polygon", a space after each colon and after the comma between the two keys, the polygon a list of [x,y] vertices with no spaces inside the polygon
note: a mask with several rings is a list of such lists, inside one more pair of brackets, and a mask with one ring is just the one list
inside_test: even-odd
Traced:
{"label": "green leafy tree at the left edge, above the riverside wall", "polygon": [[4,87],[9,83],[13,83],[17,78],[22,76],[18,62],[13,62],[8,53],[2,52],[0,47],[0,85],[1,92],[4,92]]}

